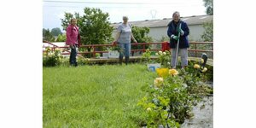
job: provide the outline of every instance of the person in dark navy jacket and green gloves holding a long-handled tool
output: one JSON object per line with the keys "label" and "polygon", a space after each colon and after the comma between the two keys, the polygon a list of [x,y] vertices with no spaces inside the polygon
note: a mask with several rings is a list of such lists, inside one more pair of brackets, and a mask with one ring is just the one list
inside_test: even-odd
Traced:
{"label": "person in dark navy jacket and green gloves holding a long-handled tool", "polygon": [[[181,55],[182,68],[188,66],[189,26],[186,22],[180,20],[180,14],[177,11],[172,14],[172,21],[168,24],[167,35],[170,38],[170,48],[172,49],[172,68],[176,68],[179,54]],[[178,46],[177,42],[179,42]]]}

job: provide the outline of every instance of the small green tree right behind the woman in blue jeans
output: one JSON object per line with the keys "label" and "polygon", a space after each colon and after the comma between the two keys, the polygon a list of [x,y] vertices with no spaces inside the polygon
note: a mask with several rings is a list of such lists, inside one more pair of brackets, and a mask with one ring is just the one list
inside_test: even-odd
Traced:
{"label": "small green tree right behind the woman in blue jeans", "polygon": [[[138,27],[132,26],[132,34],[138,43],[150,43],[153,42],[153,38],[148,37],[149,28],[148,27]],[[131,40],[132,41],[132,40]],[[146,45],[146,49],[148,49],[148,45]],[[143,49],[143,45],[132,45],[131,49]]]}

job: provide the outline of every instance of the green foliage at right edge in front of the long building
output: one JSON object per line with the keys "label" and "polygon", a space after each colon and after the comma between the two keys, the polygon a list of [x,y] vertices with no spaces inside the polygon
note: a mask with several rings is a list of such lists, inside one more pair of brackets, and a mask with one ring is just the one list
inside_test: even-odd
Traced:
{"label": "green foliage at right edge in front of the long building", "polygon": [[201,35],[201,38],[203,41],[213,41],[213,20],[206,22],[203,24],[203,27],[205,28],[205,32]]}

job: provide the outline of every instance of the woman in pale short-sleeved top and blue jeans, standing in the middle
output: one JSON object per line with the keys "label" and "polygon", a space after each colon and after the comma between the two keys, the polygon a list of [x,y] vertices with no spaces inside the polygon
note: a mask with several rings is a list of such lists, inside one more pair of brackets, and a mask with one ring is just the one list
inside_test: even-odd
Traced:
{"label": "woman in pale short-sleeved top and blue jeans, standing in the middle", "polygon": [[131,39],[137,43],[137,40],[133,37],[131,32],[131,24],[128,23],[128,17],[123,16],[123,23],[117,28],[116,38],[114,43],[119,44],[119,64],[122,64],[123,56],[125,55],[125,65],[129,61],[131,53]]}

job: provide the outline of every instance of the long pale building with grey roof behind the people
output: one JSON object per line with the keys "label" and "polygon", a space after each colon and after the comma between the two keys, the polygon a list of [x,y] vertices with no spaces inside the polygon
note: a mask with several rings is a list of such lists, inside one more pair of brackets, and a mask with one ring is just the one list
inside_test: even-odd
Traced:
{"label": "long pale building with grey roof behind the people", "polygon": [[[181,20],[185,21],[189,26],[189,40],[201,41],[201,35],[204,32],[203,23],[213,19],[213,15],[193,15],[188,17],[181,17]],[[132,26],[149,27],[149,37],[154,39],[154,42],[159,42],[162,37],[167,37],[167,25],[172,18],[164,18],[163,20],[139,20],[129,21]],[[121,23],[121,22],[119,22]],[[116,29],[119,23],[113,23],[114,31],[113,37],[116,35]]]}

